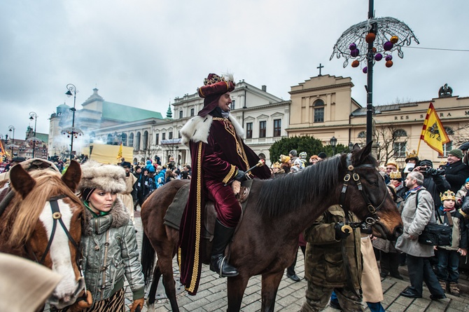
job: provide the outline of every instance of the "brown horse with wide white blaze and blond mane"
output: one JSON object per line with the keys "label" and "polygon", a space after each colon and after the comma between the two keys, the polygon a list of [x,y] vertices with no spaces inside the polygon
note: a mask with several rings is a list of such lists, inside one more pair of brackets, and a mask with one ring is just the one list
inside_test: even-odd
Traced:
{"label": "brown horse with wide white blaze and blond mane", "polygon": [[[80,165],[71,161],[62,176],[58,170],[27,172],[22,165],[0,182],[0,252],[31,259],[63,276],[49,303],[63,308],[85,287],[78,260],[83,205],[74,194]],[[10,186],[10,187],[9,187]],[[11,189],[10,189],[11,188]]]}

